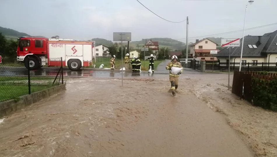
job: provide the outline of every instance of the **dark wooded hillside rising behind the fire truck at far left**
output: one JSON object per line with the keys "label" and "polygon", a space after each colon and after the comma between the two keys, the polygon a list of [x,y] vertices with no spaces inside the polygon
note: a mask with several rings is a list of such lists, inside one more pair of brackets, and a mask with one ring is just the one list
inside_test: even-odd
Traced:
{"label": "dark wooded hillside rising behind the fire truck at far left", "polygon": [[1,27],[1,26],[0,26],[0,33],[2,33],[2,35],[4,35],[7,39],[12,39],[12,40],[17,40],[17,38],[21,36],[45,38],[43,36],[31,36],[27,33],[18,32],[13,29]]}

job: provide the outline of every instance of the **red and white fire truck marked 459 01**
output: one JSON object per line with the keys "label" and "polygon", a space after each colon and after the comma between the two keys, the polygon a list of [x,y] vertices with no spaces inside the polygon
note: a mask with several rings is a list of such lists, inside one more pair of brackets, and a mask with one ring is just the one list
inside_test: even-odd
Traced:
{"label": "red and white fire truck marked 459 01", "polygon": [[23,62],[31,70],[39,69],[44,65],[68,66],[70,70],[79,70],[82,66],[92,64],[94,41],[71,39],[48,39],[20,37],[17,47],[17,60]]}

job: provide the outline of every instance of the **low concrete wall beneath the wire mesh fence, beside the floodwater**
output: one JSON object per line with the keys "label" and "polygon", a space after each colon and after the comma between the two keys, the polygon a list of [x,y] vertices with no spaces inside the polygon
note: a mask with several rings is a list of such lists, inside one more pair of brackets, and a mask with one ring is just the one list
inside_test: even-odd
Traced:
{"label": "low concrete wall beneath the wire mesh fence, beside the floodwater", "polygon": [[19,97],[18,101],[8,100],[0,102],[0,118],[9,114],[12,114],[18,110],[21,110],[25,106],[29,106],[33,103],[41,101],[42,99],[47,99],[50,96],[56,94],[57,92],[66,89],[66,85],[58,85],[54,87],[47,88],[42,91],[31,93],[30,95],[23,95]]}

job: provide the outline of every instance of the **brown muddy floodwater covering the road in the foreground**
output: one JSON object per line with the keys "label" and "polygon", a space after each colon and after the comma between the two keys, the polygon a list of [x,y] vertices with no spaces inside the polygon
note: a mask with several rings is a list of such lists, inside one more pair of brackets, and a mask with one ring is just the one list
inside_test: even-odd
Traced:
{"label": "brown muddy floodwater covering the road in the foreground", "polygon": [[252,157],[210,101],[227,92],[226,78],[183,75],[176,97],[168,75],[125,78],[123,87],[115,78],[69,79],[66,91],[3,120],[0,156]]}

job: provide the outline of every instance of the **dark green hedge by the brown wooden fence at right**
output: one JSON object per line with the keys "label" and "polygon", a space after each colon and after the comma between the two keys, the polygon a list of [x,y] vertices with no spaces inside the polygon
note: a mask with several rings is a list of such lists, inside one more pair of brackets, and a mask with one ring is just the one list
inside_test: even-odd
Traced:
{"label": "dark green hedge by the brown wooden fence at right", "polygon": [[253,105],[277,111],[277,79],[265,80],[252,77]]}

